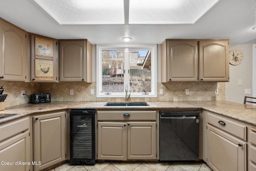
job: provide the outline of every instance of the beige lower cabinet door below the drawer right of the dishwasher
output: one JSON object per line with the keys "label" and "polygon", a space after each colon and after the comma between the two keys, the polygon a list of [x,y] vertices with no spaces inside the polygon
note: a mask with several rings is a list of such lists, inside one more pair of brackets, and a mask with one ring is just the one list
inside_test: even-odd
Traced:
{"label": "beige lower cabinet door below the drawer right of the dishwasher", "polygon": [[214,171],[246,171],[246,143],[208,125],[207,163]]}

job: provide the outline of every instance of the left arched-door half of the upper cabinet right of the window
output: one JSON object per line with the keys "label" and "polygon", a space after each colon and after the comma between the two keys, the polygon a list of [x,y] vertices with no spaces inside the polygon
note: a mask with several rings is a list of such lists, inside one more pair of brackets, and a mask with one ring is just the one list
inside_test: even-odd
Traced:
{"label": "left arched-door half of the upper cabinet right of the window", "polygon": [[198,80],[197,44],[197,40],[165,40],[162,43],[162,82]]}

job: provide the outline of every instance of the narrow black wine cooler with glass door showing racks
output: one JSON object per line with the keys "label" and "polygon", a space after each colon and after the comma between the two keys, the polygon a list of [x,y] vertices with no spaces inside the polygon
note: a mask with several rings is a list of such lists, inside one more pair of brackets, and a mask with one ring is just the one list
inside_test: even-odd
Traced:
{"label": "narrow black wine cooler with glass door showing racks", "polygon": [[95,165],[95,110],[70,110],[70,164]]}

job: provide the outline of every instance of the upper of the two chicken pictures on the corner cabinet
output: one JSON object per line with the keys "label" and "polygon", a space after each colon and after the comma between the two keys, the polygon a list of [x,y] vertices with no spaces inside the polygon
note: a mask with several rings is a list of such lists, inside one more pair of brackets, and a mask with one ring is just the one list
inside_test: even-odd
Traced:
{"label": "upper of the two chicken pictures on the corner cabinet", "polygon": [[35,58],[53,60],[53,41],[35,37]]}

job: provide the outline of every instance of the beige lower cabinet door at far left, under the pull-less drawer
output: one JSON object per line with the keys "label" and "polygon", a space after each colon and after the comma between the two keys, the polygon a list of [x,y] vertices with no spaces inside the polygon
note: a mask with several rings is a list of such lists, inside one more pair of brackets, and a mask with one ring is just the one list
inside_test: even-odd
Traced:
{"label": "beige lower cabinet door at far left, under the pull-less drawer", "polygon": [[[1,163],[0,170],[29,171],[30,165],[34,164],[30,160],[29,142],[28,130],[2,141],[0,143],[0,161],[10,162],[10,165]],[[24,164],[25,162],[26,164]]]}

